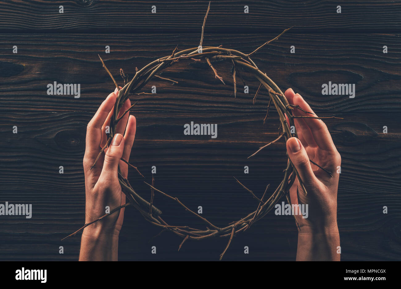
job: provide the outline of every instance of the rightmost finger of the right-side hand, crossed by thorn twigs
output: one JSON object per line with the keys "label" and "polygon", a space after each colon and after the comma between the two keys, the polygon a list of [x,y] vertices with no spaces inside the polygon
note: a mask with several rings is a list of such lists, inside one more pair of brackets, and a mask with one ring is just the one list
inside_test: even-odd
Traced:
{"label": "rightmost finger of the right-side hand, crossed by thorn twigs", "polygon": [[[314,113],[299,93],[296,93],[294,96],[294,105],[299,105],[302,109]],[[300,116],[313,116],[309,113],[304,113],[303,111],[299,111],[298,113]],[[317,115],[315,114],[315,116]],[[306,125],[308,125],[314,141],[319,148],[322,150],[336,151],[336,147],[334,146],[331,135],[328,132],[327,126],[321,119],[303,118],[302,120]]]}

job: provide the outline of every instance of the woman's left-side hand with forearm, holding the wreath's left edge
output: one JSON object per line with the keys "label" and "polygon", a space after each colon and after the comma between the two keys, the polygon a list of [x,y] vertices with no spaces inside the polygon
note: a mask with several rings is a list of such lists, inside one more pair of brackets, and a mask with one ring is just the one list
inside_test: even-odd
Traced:
{"label": "woman's left-side hand with forearm, holding the wreath's left edge", "polygon": [[[119,121],[116,133],[108,148],[104,150],[96,165],[91,169],[101,148],[107,142],[106,130],[113,114],[113,106],[118,91],[115,89],[100,105],[95,116],[89,121],[86,133],[86,148],[83,158],[85,173],[85,223],[92,222],[126,202],[126,196],[118,181],[117,168],[124,178],[128,175],[128,165],[121,160],[129,160],[134,143],[136,119],[127,113]],[[121,111],[130,107],[127,99]],[[122,115],[122,112],[119,114]],[[125,133],[124,133],[125,131]],[[107,131],[108,132],[108,131]],[[124,134],[124,137],[123,137]],[[79,260],[117,260],[118,236],[124,219],[124,209],[114,212],[83,230]]]}

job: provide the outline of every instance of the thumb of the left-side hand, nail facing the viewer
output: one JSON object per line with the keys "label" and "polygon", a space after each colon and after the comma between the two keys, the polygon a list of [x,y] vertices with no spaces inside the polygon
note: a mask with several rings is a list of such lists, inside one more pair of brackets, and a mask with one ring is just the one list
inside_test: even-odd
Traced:
{"label": "thumb of the left-side hand, nail facing the viewer", "polygon": [[103,162],[103,169],[101,176],[103,175],[106,179],[117,178],[117,168],[120,159],[124,152],[124,137],[121,133],[116,133],[111,141],[111,145],[106,152]]}

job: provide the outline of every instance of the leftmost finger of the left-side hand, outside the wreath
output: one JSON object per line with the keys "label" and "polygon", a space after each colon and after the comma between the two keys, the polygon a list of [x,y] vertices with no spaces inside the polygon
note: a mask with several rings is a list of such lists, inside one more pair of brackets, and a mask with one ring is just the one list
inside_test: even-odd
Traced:
{"label": "leftmost finger of the left-side hand, outside the wreath", "polygon": [[[107,118],[110,110],[115,103],[115,94],[110,93],[103,101],[95,115],[89,121],[86,131],[85,158],[87,161],[93,161],[99,154],[99,145],[101,141],[101,128]],[[91,164],[92,165],[92,164]]]}

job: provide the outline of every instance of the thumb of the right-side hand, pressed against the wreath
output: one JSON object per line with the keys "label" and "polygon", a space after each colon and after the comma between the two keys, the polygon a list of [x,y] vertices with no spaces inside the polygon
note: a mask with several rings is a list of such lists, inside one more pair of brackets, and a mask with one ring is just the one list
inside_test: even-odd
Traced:
{"label": "thumb of the right-side hand, pressed against the wreath", "polygon": [[287,140],[287,152],[305,186],[316,182],[317,178],[310,166],[308,154],[304,146],[296,137]]}

